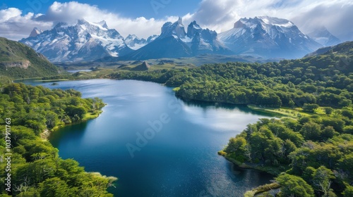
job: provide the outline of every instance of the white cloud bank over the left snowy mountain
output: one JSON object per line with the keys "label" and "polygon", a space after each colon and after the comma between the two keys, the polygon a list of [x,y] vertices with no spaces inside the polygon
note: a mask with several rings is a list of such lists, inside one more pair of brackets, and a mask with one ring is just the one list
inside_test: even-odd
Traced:
{"label": "white cloud bank over the left snowy mountain", "polygon": [[0,11],[0,21],[3,20],[0,25],[0,36],[18,40],[28,37],[33,27],[49,30],[58,22],[74,25],[78,19],[85,19],[93,23],[105,20],[109,28],[116,29],[123,37],[128,36],[128,34],[136,34],[138,37],[147,38],[152,34],[160,34],[160,28],[167,21],[177,20],[176,16],[159,20],[144,17],[124,18],[118,13],[109,13],[97,6],[80,4],[76,1],[54,2],[45,14],[21,14],[22,11],[17,8]]}

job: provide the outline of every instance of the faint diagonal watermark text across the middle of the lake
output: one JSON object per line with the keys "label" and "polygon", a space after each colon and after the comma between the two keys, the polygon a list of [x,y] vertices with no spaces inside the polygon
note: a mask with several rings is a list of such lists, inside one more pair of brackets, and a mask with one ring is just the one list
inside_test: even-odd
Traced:
{"label": "faint diagonal watermark text across the middle of the lake", "polygon": [[[167,104],[168,108],[174,110],[173,113],[177,114],[181,110],[181,103],[177,99],[169,101]],[[158,132],[161,132],[163,125],[168,124],[172,120],[169,113],[161,113],[156,120],[148,120],[148,128],[143,132],[136,132],[136,141],[133,143],[127,143],[126,148],[131,158],[135,157],[136,151],[141,151],[143,147],[148,144],[148,141],[155,138]]]}

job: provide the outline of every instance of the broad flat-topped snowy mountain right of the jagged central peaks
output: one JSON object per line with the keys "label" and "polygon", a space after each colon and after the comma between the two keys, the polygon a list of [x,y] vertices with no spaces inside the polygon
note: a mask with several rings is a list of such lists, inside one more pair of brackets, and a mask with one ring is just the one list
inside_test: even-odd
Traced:
{"label": "broad flat-topped snowy mountain right of the jagged central peaks", "polygon": [[237,54],[265,58],[301,58],[322,46],[291,21],[268,16],[241,18],[219,37]]}

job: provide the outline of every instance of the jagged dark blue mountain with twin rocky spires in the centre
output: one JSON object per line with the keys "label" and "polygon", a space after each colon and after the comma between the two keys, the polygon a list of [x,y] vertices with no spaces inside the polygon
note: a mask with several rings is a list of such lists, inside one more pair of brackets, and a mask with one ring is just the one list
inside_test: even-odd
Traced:
{"label": "jagged dark blue mountain with twin rocky spires in the centre", "polygon": [[217,32],[202,29],[196,21],[188,26],[186,33],[179,18],[175,23],[164,23],[159,37],[124,58],[133,60],[180,58],[197,56],[201,53],[230,54],[232,51],[217,39]]}

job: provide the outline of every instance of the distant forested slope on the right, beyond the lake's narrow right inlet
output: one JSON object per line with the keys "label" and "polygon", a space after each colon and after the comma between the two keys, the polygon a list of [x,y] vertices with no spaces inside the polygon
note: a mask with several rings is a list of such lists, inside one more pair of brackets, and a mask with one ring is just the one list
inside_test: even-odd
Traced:
{"label": "distant forested slope on the right, beyond the lake's narrow right inlet", "polygon": [[177,96],[260,106],[342,108],[353,98],[352,56],[316,56],[280,63],[220,63],[180,70],[119,71],[109,77],[179,87]]}

